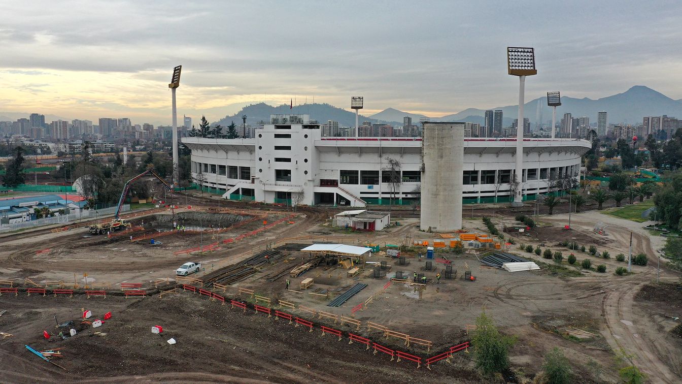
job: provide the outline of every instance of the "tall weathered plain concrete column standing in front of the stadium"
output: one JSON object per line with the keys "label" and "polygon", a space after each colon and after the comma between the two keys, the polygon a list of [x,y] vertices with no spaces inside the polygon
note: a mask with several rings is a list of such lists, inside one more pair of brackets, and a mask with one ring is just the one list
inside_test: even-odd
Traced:
{"label": "tall weathered plain concrete column standing in front of the stadium", "polygon": [[421,230],[462,229],[464,123],[428,122],[422,141]]}

